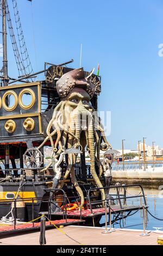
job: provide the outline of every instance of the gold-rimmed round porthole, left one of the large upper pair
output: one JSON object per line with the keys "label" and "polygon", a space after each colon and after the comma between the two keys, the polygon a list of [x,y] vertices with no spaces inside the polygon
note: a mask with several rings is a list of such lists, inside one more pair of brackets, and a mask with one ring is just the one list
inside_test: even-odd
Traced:
{"label": "gold-rimmed round porthole, left one of the large upper pair", "polygon": [[4,93],[2,97],[2,105],[5,110],[13,111],[17,106],[17,102],[17,94],[14,91],[8,90],[8,92]]}

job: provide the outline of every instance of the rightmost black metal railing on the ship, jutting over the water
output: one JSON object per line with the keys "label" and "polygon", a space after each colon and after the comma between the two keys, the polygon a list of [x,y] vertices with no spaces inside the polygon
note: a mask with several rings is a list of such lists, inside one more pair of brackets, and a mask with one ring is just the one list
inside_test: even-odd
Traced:
{"label": "rightmost black metal railing on the ship, jutting over the water", "polygon": [[[127,196],[127,188],[140,188],[140,193],[137,195],[132,195],[129,194],[129,196]],[[109,193],[110,196],[112,196],[111,200],[114,200],[114,202],[116,202],[116,204],[118,204],[120,206],[120,210],[124,210],[123,205],[127,205],[127,199],[131,199],[131,198],[142,198],[144,201],[144,204],[147,205],[146,202],[146,197],[145,197],[145,193],[143,191],[143,187],[141,185],[114,185],[114,186],[109,186],[109,187],[95,187],[95,188],[90,188],[90,190],[87,193],[87,200],[88,200],[88,204],[89,204],[89,209],[91,210],[91,214],[93,214],[93,206],[97,206],[100,205],[101,207],[103,206],[105,199],[100,199],[100,200],[91,200],[91,194],[93,191],[101,191],[101,190],[112,190],[112,189],[116,190],[115,194],[111,194]],[[120,191],[123,190],[123,193],[120,193]],[[123,200],[123,203],[122,203]],[[139,205],[140,207],[140,205]]]}

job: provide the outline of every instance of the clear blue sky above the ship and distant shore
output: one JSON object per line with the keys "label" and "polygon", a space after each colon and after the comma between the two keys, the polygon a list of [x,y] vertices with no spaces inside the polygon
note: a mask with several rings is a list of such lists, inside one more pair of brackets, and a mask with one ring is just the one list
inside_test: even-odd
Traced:
{"label": "clear blue sky above the ship and distant shore", "polygon": [[[121,148],[126,139],[125,148],[136,148],[137,141],[147,137],[148,144],[155,141],[163,147],[163,58],[158,55],[163,43],[162,0],[17,3],[34,71],[42,70],[44,62],[59,64],[71,58],[70,66],[78,68],[83,43],[84,69],[100,64],[98,106],[111,111],[112,146]],[[10,39],[8,56],[9,74],[16,77]]]}

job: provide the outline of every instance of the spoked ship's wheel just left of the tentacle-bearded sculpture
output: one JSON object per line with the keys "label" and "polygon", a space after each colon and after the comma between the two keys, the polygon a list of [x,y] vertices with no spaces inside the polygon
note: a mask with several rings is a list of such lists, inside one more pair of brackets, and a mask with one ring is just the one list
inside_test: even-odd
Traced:
{"label": "spoked ship's wheel just left of the tentacle-bearded sculpture", "polygon": [[23,155],[23,161],[28,168],[41,167],[43,156],[39,149],[27,149]]}

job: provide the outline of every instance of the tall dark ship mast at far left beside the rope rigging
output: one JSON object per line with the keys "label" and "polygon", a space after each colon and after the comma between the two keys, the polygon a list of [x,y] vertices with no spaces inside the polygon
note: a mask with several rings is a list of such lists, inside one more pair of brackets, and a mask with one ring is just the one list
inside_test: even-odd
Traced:
{"label": "tall dark ship mast at far left beside the rope rigging", "polygon": [[3,86],[8,86],[8,58],[7,58],[7,23],[6,0],[2,0],[2,35],[3,35]]}

